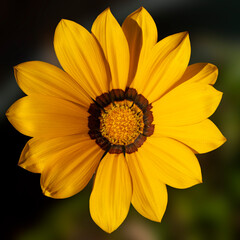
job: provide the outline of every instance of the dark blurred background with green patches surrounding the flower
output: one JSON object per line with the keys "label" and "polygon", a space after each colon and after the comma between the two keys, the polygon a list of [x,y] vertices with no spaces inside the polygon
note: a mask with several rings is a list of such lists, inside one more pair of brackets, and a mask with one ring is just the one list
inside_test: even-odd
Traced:
{"label": "dark blurred background with green patches surrounding the flower", "polygon": [[[215,87],[224,92],[211,118],[228,141],[199,155],[203,184],[186,190],[168,187],[169,203],[161,223],[133,208],[111,235],[90,218],[91,184],[74,197],[54,200],[41,193],[40,176],[17,166],[28,137],[7,121],[8,107],[23,96],[13,66],[30,60],[58,65],[53,34],[62,18],[90,30],[105,8],[120,23],[144,6],[156,21],[159,39],[189,31],[191,63],[219,67]],[[13,240],[232,240],[240,239],[240,2],[234,0],[1,0],[1,239]]]}

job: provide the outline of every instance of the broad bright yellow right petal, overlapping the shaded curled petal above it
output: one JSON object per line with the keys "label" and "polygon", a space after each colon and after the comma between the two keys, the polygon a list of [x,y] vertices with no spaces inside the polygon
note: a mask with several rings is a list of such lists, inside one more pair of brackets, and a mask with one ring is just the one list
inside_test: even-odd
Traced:
{"label": "broad bright yellow right petal, overlapping the shaded curled petal above it", "polygon": [[153,103],[154,121],[163,126],[199,123],[218,107],[222,93],[210,85],[181,84]]}

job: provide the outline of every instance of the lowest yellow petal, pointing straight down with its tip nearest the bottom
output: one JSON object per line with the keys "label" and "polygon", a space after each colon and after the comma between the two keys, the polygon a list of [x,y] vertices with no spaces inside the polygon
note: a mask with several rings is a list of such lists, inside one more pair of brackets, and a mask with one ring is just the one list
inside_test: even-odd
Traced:
{"label": "lowest yellow petal, pointing straight down with its tip nearest the bottom", "polygon": [[92,194],[90,213],[94,222],[111,233],[128,214],[132,183],[123,154],[107,154],[101,161]]}

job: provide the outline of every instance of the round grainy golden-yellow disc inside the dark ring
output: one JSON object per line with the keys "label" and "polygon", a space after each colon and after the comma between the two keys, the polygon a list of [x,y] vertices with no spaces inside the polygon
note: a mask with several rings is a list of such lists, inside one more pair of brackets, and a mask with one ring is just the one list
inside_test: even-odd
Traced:
{"label": "round grainy golden-yellow disc inside the dark ring", "polygon": [[108,105],[99,119],[102,136],[112,144],[128,145],[143,133],[143,113],[130,101]]}

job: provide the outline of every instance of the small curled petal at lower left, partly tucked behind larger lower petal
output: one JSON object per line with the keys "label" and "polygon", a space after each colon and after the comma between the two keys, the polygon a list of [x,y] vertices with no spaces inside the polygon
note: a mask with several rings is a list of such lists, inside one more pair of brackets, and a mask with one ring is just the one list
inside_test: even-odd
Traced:
{"label": "small curled petal at lower left, partly tucked behind larger lower petal", "polygon": [[52,156],[60,151],[76,145],[88,135],[76,134],[58,138],[31,138],[25,145],[18,165],[30,172],[41,173]]}

